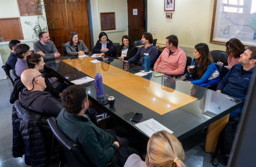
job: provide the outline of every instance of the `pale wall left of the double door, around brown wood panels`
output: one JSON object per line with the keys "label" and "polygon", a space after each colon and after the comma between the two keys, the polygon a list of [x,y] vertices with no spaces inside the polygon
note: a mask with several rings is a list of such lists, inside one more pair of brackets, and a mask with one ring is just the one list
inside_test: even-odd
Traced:
{"label": "pale wall left of the double door, around brown wood panels", "polygon": [[[43,11],[45,16],[45,11]],[[20,40],[21,43],[25,43],[30,46],[30,50],[33,50],[33,43],[35,39],[32,38],[33,31],[29,25],[26,25],[25,21],[35,22],[36,16],[20,16],[17,0],[0,0],[0,18],[12,18],[19,17],[21,22],[21,28],[23,32],[24,40]],[[42,23],[43,24],[43,23]],[[37,39],[36,39],[37,40]],[[9,41],[0,42],[0,53],[3,62],[7,61],[7,58],[11,52],[8,47]]]}

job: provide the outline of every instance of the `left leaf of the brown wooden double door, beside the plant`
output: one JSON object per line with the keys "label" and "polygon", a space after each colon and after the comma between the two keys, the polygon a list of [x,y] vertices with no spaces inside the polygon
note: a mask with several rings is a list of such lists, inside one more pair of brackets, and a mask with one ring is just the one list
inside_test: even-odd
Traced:
{"label": "left leaf of the brown wooden double door, beside the plant", "polygon": [[54,18],[59,18],[54,22],[54,28],[49,27],[50,40],[52,40],[59,51],[62,54],[62,43],[67,43],[69,40],[69,27],[67,20],[67,11],[65,0],[44,0],[45,13],[47,22]]}

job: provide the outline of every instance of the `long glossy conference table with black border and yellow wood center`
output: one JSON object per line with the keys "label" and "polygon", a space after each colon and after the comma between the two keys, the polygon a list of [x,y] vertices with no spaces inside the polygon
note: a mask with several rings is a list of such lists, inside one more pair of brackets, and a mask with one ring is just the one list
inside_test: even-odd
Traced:
{"label": "long glossy conference table with black border and yellow wood center", "polygon": [[[103,56],[96,58],[99,63],[92,63],[90,61],[95,58],[91,58],[91,55],[90,52],[89,57],[71,59],[73,56],[64,56],[46,60],[45,67],[69,84],[72,84],[70,81],[85,76],[94,78],[96,73],[100,73],[104,93],[114,96],[114,106],[100,103],[107,96],[96,97],[94,81],[92,85],[86,86],[89,100],[113,118],[131,126],[144,139],[149,137],[135,124],[151,118],[170,129],[179,140],[212,125],[212,129],[207,132],[209,136],[206,137],[206,146],[207,143],[210,144],[207,152],[214,152],[220,126],[223,129],[223,122],[227,122],[229,113],[242,106],[242,100],[238,98],[171,76],[155,77],[154,74],[159,74],[155,71],[145,76],[137,76],[135,74],[143,70],[142,67],[124,63],[119,59]],[[143,114],[139,122],[130,121],[135,113]],[[216,128],[219,130],[216,131]],[[213,133],[215,134],[212,135]]]}

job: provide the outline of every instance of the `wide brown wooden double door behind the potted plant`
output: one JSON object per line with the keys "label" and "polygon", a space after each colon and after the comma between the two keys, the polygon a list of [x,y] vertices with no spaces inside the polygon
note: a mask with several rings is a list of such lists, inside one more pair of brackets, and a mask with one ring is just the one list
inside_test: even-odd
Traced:
{"label": "wide brown wooden double door behind the potted plant", "polygon": [[[54,28],[49,27],[50,39],[62,54],[62,43],[69,41],[69,32],[79,33],[89,51],[92,50],[87,0],[44,0],[47,22],[59,18]],[[67,6],[67,9],[66,9]]]}

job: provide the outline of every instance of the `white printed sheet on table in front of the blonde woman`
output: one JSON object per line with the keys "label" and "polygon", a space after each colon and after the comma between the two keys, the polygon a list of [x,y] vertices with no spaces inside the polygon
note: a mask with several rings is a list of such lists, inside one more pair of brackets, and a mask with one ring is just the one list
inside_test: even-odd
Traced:
{"label": "white printed sheet on table in front of the blonde woman", "polygon": [[173,133],[170,129],[168,129],[164,125],[160,124],[153,118],[143,121],[143,122],[140,122],[140,123],[136,124],[135,126],[137,126],[142,132],[147,134],[149,137],[151,137],[152,134],[154,134],[158,131],[161,131],[161,130],[166,130],[169,133]]}

